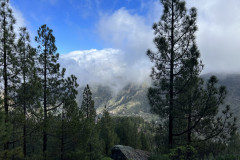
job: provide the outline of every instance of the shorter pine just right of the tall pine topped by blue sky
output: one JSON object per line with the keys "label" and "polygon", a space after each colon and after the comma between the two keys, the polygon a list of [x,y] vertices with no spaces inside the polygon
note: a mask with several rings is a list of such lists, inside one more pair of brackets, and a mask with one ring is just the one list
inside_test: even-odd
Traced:
{"label": "shorter pine just right of the tall pine topped by blue sky", "polygon": [[[63,108],[61,110],[61,133],[60,133],[60,150],[61,150],[61,156],[60,159],[69,159],[66,158],[67,153],[70,149],[74,150],[77,141],[79,128],[81,126],[80,122],[80,110],[77,106],[76,102],[76,96],[77,96],[77,90],[78,84],[76,82],[77,78],[73,75],[71,77],[68,77],[65,80],[64,88],[68,89],[68,92],[65,92],[64,95],[64,103]],[[67,127],[68,126],[68,127]],[[70,146],[71,147],[66,147]],[[68,148],[68,149],[65,149]],[[70,148],[70,149],[69,149]]]}

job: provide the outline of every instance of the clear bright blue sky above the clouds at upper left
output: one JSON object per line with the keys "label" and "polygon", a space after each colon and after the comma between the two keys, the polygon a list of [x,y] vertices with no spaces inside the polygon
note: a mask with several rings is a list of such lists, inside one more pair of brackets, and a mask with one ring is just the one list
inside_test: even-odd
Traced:
{"label": "clear bright blue sky above the clouds at upper left", "polygon": [[[28,29],[36,34],[42,24],[53,29],[58,51],[103,49],[111,47],[98,34],[98,23],[104,15],[124,8],[131,14],[146,17],[153,0],[11,0],[22,13]],[[159,4],[160,6],[160,4]],[[149,23],[151,26],[152,22]]]}

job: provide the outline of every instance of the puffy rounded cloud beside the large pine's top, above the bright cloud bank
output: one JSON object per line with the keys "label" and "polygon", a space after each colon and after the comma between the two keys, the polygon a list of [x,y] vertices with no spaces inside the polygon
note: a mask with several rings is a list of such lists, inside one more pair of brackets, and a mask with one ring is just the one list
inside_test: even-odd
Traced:
{"label": "puffy rounded cloud beside the large pine's top, above the bright cloud bank", "polygon": [[98,31],[100,37],[114,48],[126,52],[128,63],[136,63],[146,58],[145,52],[153,48],[153,31],[146,19],[137,14],[131,14],[121,8],[112,15],[102,16]]}

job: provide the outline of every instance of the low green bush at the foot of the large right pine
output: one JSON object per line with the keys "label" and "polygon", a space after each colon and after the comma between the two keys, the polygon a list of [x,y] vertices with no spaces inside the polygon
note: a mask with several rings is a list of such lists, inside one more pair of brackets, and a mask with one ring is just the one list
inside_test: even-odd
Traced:
{"label": "low green bush at the foot of the large right pine", "polygon": [[179,146],[169,153],[171,160],[194,160],[196,159],[197,150],[190,145]]}

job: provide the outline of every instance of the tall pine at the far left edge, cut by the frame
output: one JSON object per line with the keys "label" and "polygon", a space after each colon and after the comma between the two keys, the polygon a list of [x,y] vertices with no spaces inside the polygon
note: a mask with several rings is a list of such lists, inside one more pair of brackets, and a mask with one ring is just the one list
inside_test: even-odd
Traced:
{"label": "tall pine at the far left edge, cut by the frame", "polygon": [[[1,0],[0,5],[0,74],[3,79],[3,82],[1,84],[4,88],[3,107],[5,110],[5,123],[8,123],[9,106],[10,100],[12,99],[11,92],[15,88],[15,83],[18,80],[15,70],[17,61],[14,53],[15,33],[13,25],[15,24],[15,19],[13,17],[12,9],[9,7],[8,0]],[[4,144],[4,149],[9,149],[9,141]]]}

